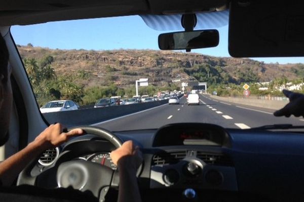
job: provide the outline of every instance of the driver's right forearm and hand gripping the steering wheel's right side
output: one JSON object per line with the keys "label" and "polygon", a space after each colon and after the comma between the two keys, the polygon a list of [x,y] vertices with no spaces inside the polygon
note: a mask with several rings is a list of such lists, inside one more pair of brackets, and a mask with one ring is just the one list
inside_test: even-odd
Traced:
{"label": "driver's right forearm and hand gripping the steering wheel's right side", "polygon": [[142,162],[140,151],[132,141],[126,141],[110,154],[112,162],[119,170],[119,202],[141,201],[136,171]]}

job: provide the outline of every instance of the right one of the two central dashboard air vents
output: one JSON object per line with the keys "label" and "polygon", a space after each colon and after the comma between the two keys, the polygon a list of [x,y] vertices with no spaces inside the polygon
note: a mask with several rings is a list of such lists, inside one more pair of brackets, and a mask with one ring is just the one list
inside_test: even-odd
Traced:
{"label": "right one of the two central dashboard air vents", "polygon": [[210,154],[198,151],[197,158],[201,159],[206,164],[214,166],[233,166],[233,161],[228,155]]}

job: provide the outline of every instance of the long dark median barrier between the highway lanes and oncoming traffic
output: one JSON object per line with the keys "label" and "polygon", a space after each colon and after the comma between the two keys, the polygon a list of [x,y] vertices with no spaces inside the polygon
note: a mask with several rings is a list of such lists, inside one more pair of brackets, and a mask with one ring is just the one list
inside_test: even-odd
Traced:
{"label": "long dark median barrier between the highway lanes and oncoming traffic", "polygon": [[167,104],[168,100],[159,100],[149,103],[133,105],[118,105],[103,108],[79,109],[65,112],[44,113],[44,118],[49,123],[62,123],[67,127],[78,125],[90,125],[124,115],[140,112],[153,107]]}

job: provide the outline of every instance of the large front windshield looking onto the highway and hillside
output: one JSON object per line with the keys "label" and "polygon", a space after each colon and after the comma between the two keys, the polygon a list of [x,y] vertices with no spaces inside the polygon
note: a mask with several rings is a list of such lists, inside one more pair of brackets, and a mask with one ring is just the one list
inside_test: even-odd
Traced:
{"label": "large front windshield looking onto the highway and hillside", "polygon": [[[83,125],[112,131],[181,122],[238,129],[302,125],[301,118],[273,112],[288,103],[282,89],[304,92],[303,58],[232,58],[228,26],[208,28],[219,31],[219,45],[190,53],[160,51],[164,31],[149,28],[139,16],[13,26],[11,32],[37,105],[68,99],[79,106],[42,114],[49,123],[79,125],[60,120],[60,114],[76,116],[78,110]],[[104,97],[117,98],[98,107],[110,103]],[[63,102],[43,108],[53,106]]]}

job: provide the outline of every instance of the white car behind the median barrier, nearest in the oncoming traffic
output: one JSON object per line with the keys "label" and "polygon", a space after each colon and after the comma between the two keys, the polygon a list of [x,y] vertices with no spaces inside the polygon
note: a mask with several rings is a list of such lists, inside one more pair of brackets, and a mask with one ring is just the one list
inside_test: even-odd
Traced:
{"label": "white car behind the median barrier, nearest in the oncoming traffic", "polygon": [[55,100],[40,108],[41,113],[78,110],[78,105],[71,100]]}

